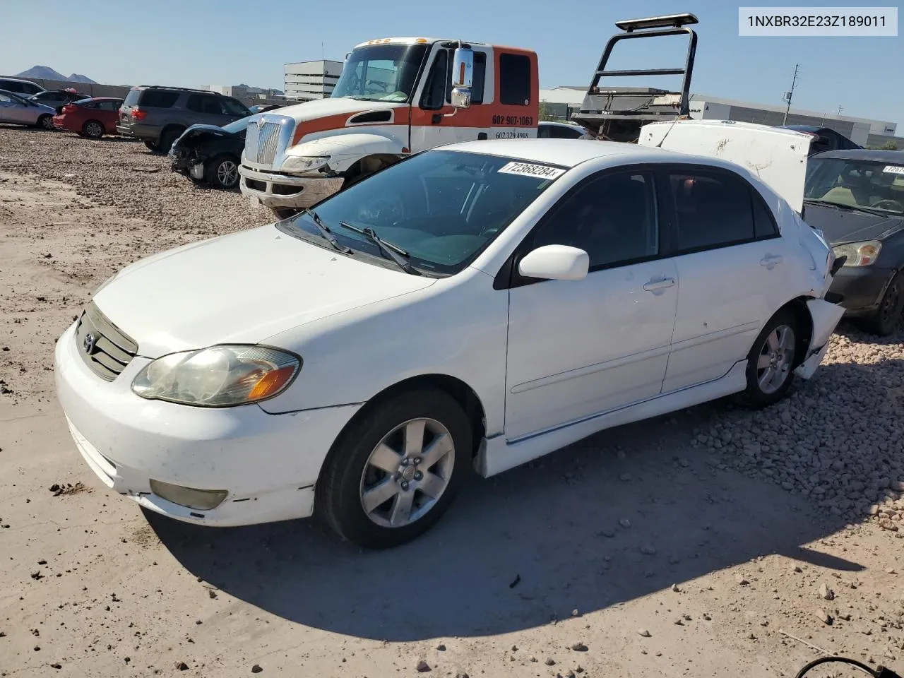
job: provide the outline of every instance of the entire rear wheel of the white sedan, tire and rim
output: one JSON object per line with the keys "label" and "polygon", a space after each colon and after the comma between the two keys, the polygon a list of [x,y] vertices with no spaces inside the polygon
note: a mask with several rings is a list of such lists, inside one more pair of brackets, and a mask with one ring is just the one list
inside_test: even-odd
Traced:
{"label": "entire rear wheel of the white sedan, tire and rim", "polygon": [[758,410],[785,397],[794,381],[797,353],[797,318],[788,309],[773,315],[747,358],[747,390],[744,400]]}

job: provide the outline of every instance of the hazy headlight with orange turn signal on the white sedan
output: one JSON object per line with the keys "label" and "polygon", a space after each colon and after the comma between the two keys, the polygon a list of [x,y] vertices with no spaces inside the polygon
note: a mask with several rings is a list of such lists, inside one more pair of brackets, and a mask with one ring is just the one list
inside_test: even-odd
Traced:
{"label": "hazy headlight with orange turn signal on the white sedan", "polygon": [[222,345],[171,353],[149,363],[132,381],[148,400],[222,408],[266,400],[285,391],[301,359],[266,346]]}

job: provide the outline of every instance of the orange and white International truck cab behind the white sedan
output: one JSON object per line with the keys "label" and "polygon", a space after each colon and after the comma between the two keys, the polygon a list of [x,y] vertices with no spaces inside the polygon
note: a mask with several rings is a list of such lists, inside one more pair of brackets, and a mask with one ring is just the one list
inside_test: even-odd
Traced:
{"label": "orange and white International truck cab behind the white sedan", "polygon": [[329,99],[252,118],[241,192],[278,214],[400,158],[457,141],[537,136],[537,55],[434,38],[363,42]]}

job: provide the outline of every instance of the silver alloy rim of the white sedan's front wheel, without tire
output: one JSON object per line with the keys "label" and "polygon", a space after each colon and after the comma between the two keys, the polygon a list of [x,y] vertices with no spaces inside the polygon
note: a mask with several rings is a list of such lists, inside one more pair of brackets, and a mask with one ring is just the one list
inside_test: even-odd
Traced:
{"label": "silver alloy rim of the white sedan's front wheel, without tire", "polygon": [[416,523],[446,491],[455,444],[436,419],[410,419],[384,436],[361,476],[364,513],[381,527]]}

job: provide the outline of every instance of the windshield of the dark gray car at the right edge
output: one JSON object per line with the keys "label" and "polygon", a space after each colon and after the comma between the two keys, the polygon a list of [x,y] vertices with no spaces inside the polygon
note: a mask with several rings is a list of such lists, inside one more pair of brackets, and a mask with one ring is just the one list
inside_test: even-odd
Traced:
{"label": "windshield of the dark gray car at the right edge", "polygon": [[810,158],[805,200],[874,212],[904,212],[904,160],[899,163],[847,158]]}

